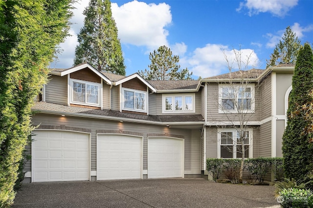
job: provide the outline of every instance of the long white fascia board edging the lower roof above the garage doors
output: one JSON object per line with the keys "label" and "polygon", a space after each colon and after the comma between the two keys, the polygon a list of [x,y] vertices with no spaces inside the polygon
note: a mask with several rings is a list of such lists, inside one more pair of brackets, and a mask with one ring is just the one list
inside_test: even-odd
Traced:
{"label": "long white fascia board edging the lower roof above the garage doors", "polygon": [[97,119],[106,119],[113,121],[124,121],[124,122],[133,122],[133,123],[145,123],[145,124],[156,124],[156,125],[199,125],[203,124],[203,121],[187,121],[187,122],[161,122],[161,121],[148,121],[148,120],[140,120],[140,119],[132,119],[132,118],[124,118],[124,117],[113,117],[113,116],[104,116],[104,115],[96,115],[96,114],[87,114],[87,113],[69,113],[69,112],[58,112],[58,111],[48,111],[48,110],[36,110],[32,109],[32,111],[36,113],[46,113],[46,114],[54,114],[54,115],[65,115],[65,116],[76,116],[76,117],[84,117],[84,118],[97,118]]}

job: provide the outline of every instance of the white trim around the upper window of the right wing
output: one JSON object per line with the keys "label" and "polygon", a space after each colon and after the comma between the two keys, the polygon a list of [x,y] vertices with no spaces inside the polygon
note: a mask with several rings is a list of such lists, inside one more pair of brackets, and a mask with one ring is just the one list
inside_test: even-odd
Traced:
{"label": "white trim around the upper window of the right wing", "polygon": [[[251,109],[250,110],[245,110],[245,112],[242,113],[254,113],[254,103],[255,103],[255,92],[254,92],[254,88],[255,85],[254,84],[233,84],[232,86],[229,84],[219,84],[219,113],[238,113],[238,109],[234,110],[226,110],[226,109],[222,109],[222,88],[224,87],[236,87],[237,89],[240,87],[245,87],[245,88],[250,88],[251,89]],[[236,90],[236,92],[238,92],[238,90]],[[236,99],[237,99],[237,103],[238,103],[238,95],[236,95]]]}

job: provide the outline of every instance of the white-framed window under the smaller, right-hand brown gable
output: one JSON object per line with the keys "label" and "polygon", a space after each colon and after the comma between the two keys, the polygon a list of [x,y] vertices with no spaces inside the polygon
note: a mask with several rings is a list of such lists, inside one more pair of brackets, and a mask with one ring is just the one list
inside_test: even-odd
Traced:
{"label": "white-framed window under the smaller, right-hand brown gable", "polygon": [[122,88],[122,109],[125,111],[147,112],[145,91]]}

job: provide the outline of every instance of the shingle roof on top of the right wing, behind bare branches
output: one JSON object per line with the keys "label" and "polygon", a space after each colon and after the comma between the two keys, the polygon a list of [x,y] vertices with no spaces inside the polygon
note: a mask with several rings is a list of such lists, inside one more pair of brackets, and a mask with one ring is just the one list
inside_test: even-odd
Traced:
{"label": "shingle roof on top of the right wing, behind bare branches", "polygon": [[250,69],[250,70],[239,70],[231,73],[226,73],[218,76],[210,76],[204,79],[229,79],[229,78],[257,78],[260,76],[265,70],[263,69]]}

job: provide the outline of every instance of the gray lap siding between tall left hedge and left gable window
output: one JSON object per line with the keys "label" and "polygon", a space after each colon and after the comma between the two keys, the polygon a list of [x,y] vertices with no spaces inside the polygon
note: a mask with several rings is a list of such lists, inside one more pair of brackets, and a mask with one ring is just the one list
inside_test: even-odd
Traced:
{"label": "gray lap siding between tall left hedge and left gable window", "polygon": [[51,75],[49,79],[45,86],[45,101],[67,105],[67,76]]}

